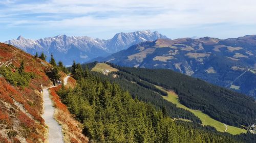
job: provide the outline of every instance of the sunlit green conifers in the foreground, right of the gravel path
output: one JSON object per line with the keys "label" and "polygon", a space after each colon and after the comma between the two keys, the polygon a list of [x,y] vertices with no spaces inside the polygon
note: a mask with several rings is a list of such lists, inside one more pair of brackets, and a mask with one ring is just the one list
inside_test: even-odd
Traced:
{"label": "sunlit green conifers in the foreground, right of the gravel path", "polygon": [[164,108],[133,99],[119,85],[77,68],[77,86],[61,88],[58,95],[93,142],[243,142],[212,127],[176,122]]}

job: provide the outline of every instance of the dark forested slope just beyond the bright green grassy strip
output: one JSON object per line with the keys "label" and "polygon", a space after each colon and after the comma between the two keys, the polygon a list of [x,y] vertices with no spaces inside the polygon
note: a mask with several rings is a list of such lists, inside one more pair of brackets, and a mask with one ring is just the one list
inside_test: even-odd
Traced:
{"label": "dark forested slope just beyond the bright green grassy strip", "polygon": [[255,123],[256,103],[251,97],[171,70],[116,68],[167,90],[174,90],[185,106],[203,110],[210,117],[228,125],[247,126]]}

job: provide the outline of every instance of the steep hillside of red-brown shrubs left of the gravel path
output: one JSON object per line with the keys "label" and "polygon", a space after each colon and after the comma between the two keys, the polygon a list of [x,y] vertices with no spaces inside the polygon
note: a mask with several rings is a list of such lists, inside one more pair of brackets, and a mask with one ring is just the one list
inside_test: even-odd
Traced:
{"label": "steep hillside of red-brown shrubs left of the gravel path", "polygon": [[[45,110],[40,90],[41,85],[52,85],[46,75],[51,69],[46,61],[0,43],[0,142],[48,142],[49,127],[42,118]],[[68,124],[75,123],[69,112],[65,114]],[[72,130],[82,132],[78,126]]]}

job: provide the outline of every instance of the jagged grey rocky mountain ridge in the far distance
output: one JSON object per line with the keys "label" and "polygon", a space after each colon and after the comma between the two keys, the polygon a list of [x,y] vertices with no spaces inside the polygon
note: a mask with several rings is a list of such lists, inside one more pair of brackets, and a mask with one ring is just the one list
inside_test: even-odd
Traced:
{"label": "jagged grey rocky mountain ridge in the far distance", "polygon": [[167,37],[158,32],[147,30],[118,33],[109,40],[94,39],[87,36],[69,37],[66,35],[31,40],[19,36],[17,39],[4,43],[16,46],[30,54],[45,52],[49,57],[53,53],[57,61],[62,61],[65,65],[71,65],[73,60],[83,63],[98,56],[110,55],[140,42],[154,41],[159,38],[166,39]]}

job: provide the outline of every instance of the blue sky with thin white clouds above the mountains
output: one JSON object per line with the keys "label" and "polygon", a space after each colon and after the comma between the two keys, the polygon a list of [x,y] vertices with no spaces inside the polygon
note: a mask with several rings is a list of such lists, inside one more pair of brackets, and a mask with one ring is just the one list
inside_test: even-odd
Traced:
{"label": "blue sky with thin white clouds above the mountains", "polygon": [[256,34],[255,8],[253,0],[0,0],[0,41],[59,34],[109,39],[141,30],[224,39]]}

